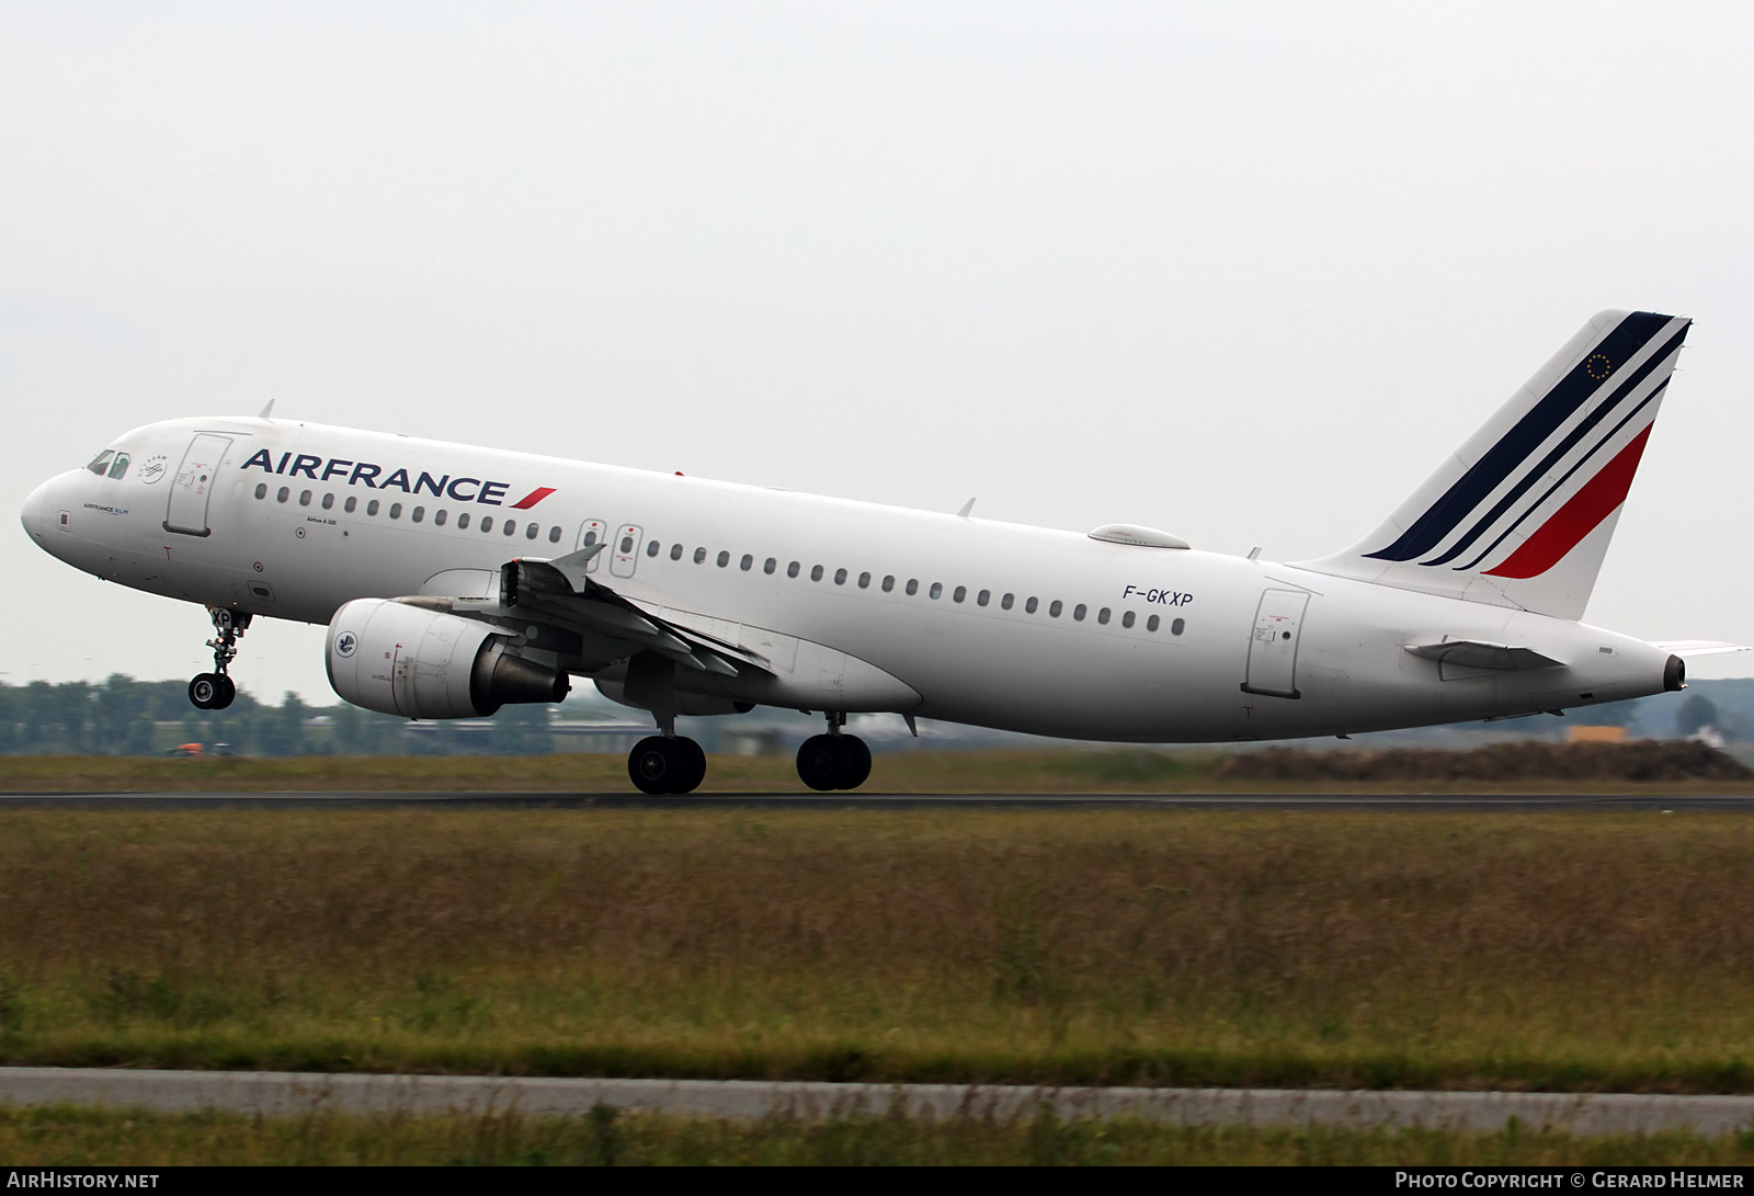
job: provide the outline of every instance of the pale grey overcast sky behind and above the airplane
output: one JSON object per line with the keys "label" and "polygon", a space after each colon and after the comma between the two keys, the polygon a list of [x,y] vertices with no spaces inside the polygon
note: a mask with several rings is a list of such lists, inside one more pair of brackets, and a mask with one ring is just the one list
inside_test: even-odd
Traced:
{"label": "pale grey overcast sky behind and above the airplane", "polygon": [[[272,398],[1301,559],[1636,307],[1698,324],[1587,619],[1754,644],[1750,51],[1750,5],[0,4],[0,507]],[[11,526],[0,680],[209,666]],[[319,628],[235,675],[333,700]]]}

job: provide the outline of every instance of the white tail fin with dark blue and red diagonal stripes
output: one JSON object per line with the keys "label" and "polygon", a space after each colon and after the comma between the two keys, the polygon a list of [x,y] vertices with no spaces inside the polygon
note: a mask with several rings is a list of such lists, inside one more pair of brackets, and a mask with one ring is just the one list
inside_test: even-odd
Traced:
{"label": "white tail fin with dark blue and red diagonal stripes", "polygon": [[1582,617],[1689,323],[1593,317],[1382,526],[1300,568]]}

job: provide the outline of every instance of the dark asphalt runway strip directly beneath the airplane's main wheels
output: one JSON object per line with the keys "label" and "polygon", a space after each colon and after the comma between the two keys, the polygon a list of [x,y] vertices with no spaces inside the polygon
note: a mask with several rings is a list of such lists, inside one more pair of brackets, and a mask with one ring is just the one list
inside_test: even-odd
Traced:
{"label": "dark asphalt runway strip directly beneath the airplane's main wheels", "polygon": [[1754,793],[0,793],[0,810],[1347,810],[1347,812],[1754,812]]}

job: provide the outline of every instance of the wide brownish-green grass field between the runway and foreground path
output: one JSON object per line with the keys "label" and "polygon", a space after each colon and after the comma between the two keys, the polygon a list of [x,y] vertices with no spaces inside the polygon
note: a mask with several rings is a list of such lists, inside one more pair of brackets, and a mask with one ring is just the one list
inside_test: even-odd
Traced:
{"label": "wide brownish-green grass field between the runway and foreground path", "polygon": [[0,812],[0,1059],[1754,1091],[1754,821]]}

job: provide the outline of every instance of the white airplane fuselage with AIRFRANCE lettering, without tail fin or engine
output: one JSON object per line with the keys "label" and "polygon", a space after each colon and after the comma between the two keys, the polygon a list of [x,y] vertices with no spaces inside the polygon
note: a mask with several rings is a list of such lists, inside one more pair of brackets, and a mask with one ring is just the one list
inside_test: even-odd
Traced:
{"label": "white airplane fuselage with AIRFRANCE lettering, without tail fin or engine", "polygon": [[[230,444],[195,461],[210,475],[179,477],[200,435]],[[845,710],[1200,742],[1665,687],[1666,652],[1612,631],[1235,556],[281,419],[170,421],[114,447],[132,458],[121,479],[74,470],[25,510],[40,547],[98,577],[328,623],[354,598],[488,593],[505,561],[595,533],[610,547],[593,575],[640,607],[721,638],[824,645],[919,694],[865,698],[849,682]],[[1563,666],[1459,668],[1407,651],[1445,637]]]}

